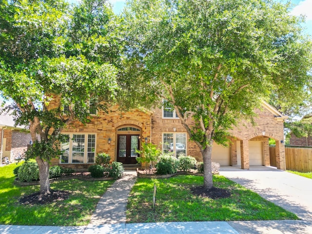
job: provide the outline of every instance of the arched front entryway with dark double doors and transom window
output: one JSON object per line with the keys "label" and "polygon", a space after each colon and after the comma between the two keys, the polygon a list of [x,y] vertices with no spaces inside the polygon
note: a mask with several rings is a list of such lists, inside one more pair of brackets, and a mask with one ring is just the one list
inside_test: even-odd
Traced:
{"label": "arched front entryway with dark double doors and transom window", "polygon": [[137,164],[136,152],[140,149],[142,130],[137,126],[121,126],[116,130],[117,136],[117,162],[126,165]]}

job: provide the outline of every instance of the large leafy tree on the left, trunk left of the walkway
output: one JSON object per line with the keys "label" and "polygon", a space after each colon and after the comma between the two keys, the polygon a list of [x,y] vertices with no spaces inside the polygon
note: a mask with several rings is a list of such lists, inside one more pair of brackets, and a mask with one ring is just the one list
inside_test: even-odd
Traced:
{"label": "large leafy tree on the left, trunk left of the walkway", "polygon": [[73,8],[62,0],[1,0],[0,9],[0,95],[13,100],[6,110],[16,124],[29,126],[26,156],[38,162],[40,193],[49,194],[61,130],[89,121],[90,100],[98,109],[115,100],[115,16],[105,0]]}

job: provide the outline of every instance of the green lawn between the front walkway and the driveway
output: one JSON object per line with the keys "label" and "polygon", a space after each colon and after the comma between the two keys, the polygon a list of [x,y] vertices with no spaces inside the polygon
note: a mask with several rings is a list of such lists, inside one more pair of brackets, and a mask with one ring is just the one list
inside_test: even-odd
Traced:
{"label": "green lawn between the front walkway and the driveway", "polygon": [[[157,187],[156,212],[152,199]],[[190,188],[203,184],[201,176],[169,179],[138,178],[128,201],[127,222],[283,220],[298,217],[223,176],[214,176],[214,186],[229,189],[228,198],[198,197]]]}

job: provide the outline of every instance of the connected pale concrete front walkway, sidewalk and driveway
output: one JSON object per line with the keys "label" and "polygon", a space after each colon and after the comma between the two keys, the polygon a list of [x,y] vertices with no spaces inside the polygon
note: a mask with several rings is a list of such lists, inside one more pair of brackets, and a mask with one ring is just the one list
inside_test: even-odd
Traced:
{"label": "connected pale concrete front walkway, sidewalk and driveway", "polygon": [[220,174],[292,211],[302,220],[171,222],[126,224],[128,195],[135,172],[125,172],[100,199],[88,226],[0,225],[1,234],[312,234],[312,180],[270,167],[241,170],[222,167]]}

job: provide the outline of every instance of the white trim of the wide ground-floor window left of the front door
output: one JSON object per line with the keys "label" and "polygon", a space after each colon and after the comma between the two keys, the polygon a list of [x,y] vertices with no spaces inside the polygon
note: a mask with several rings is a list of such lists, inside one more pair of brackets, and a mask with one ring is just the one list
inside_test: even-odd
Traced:
{"label": "white trim of the wide ground-floor window left of the front door", "polygon": [[[97,152],[97,134],[96,133],[62,133],[64,135],[69,135],[69,152],[68,152],[68,162],[62,162],[61,156],[59,157],[59,164],[93,164],[94,162],[88,162],[88,135],[95,135],[96,142],[94,146],[94,161],[96,160]],[[83,152],[83,162],[73,162],[73,135],[84,135],[84,139],[87,142],[84,143]]]}

